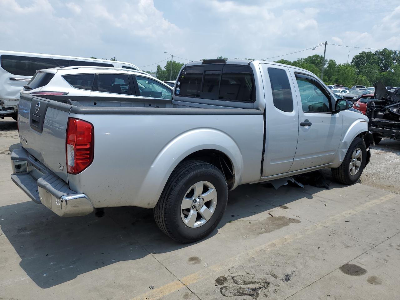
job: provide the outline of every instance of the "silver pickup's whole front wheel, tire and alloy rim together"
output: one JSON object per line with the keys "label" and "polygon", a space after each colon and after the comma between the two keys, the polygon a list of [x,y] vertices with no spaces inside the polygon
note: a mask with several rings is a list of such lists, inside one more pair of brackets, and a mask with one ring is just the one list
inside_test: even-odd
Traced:
{"label": "silver pickup's whole front wheel, tire and alloy rim together", "polygon": [[347,150],[342,164],[332,168],[333,178],[342,184],[352,184],[360,178],[367,158],[367,149],[361,138],[355,138]]}

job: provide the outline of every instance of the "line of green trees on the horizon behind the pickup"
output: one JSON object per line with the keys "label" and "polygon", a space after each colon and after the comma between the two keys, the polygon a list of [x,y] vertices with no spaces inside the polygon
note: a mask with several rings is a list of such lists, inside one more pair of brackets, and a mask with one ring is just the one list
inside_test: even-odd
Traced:
{"label": "line of green trees on the horizon behind the pickup", "polygon": [[[217,58],[226,59],[222,56]],[[322,55],[314,54],[294,61],[280,59],[275,62],[303,68],[320,77],[322,60]],[[172,63],[172,80],[176,79],[183,65],[176,61]],[[170,80],[170,74],[170,60],[164,68],[160,65],[157,66],[156,78]],[[325,84],[342,84],[348,87],[372,86],[378,80],[381,80],[385,86],[400,86],[400,52],[385,48],[375,52],[360,52],[353,57],[350,63],[337,64],[334,59],[324,61],[323,81]]]}

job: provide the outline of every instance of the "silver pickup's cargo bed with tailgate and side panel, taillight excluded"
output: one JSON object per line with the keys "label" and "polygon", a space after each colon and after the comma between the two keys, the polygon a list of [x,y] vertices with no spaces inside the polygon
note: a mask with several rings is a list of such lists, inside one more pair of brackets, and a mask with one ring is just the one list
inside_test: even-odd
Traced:
{"label": "silver pickup's cargo bed with tailgate and side panel, taillight excluded", "polygon": [[[22,95],[18,122],[22,147],[32,159],[70,190],[87,193],[94,207],[154,207],[175,166],[207,149],[232,157],[230,163],[240,176],[231,188],[260,179],[264,140],[260,110],[194,108],[170,100],[170,107],[106,106],[108,101],[92,106],[85,101]],[[93,162],[76,175],[68,174],[66,166],[68,118],[94,127]]]}

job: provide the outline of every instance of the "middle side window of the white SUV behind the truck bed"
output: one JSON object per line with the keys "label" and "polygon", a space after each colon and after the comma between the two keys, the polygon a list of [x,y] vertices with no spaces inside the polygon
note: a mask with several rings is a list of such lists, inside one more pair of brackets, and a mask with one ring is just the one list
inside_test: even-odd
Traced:
{"label": "middle side window of the white SUV behind the truck bed", "polygon": [[98,74],[97,90],[99,92],[130,95],[129,76],[124,74]]}

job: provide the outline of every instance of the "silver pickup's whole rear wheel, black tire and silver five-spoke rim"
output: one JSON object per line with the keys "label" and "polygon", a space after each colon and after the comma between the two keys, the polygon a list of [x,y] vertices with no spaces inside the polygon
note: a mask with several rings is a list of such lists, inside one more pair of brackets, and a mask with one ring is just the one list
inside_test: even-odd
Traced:
{"label": "silver pickup's whole rear wheel, black tire and silver five-spoke rim", "polygon": [[172,172],[154,208],[158,227],[170,238],[190,243],[208,236],[228,202],[228,184],[214,165],[181,162]]}

